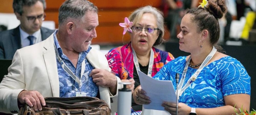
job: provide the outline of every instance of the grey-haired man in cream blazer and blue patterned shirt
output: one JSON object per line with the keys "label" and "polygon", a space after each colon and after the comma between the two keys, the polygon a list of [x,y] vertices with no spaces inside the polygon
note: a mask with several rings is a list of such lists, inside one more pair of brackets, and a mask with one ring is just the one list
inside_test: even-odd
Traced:
{"label": "grey-haired man in cream blazer and blue patterned shirt", "polygon": [[[51,36],[16,51],[12,65],[8,69],[9,73],[0,83],[0,112],[17,113],[18,105],[25,103],[35,110],[41,110],[41,105],[45,104],[45,97],[60,96],[60,87],[67,87],[70,95],[65,97],[76,95],[79,93],[76,84],[80,79],[77,78],[74,83],[70,74],[78,73],[73,75],[76,79],[79,72],[81,75],[84,72],[87,75],[90,73],[89,77],[92,79],[88,79],[96,84],[96,88],[99,87],[100,99],[111,105],[112,113],[117,112],[116,98],[117,90],[121,88],[118,84],[120,79],[111,73],[108,61],[102,53],[88,49],[90,41],[97,37],[98,8],[87,0],[66,0],[59,8],[58,17],[58,30]],[[79,65],[83,63],[79,61],[85,58],[90,64],[86,61],[88,65]],[[67,61],[61,62],[57,59]],[[63,64],[66,66],[58,66]],[[83,70],[85,66],[88,67]],[[65,72],[67,68],[73,69],[74,72]],[[62,82],[59,77],[66,81]],[[81,86],[79,88],[80,93],[88,91]],[[96,90],[93,93],[96,93]]]}

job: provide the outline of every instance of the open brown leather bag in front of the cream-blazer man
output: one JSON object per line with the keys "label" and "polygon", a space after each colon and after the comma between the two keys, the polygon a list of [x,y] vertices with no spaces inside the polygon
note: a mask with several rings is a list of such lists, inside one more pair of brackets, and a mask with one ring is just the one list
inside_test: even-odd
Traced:
{"label": "open brown leather bag in front of the cream-blazer man", "polygon": [[20,108],[19,115],[111,115],[104,100],[93,97],[44,98],[46,106],[35,111],[27,104]]}

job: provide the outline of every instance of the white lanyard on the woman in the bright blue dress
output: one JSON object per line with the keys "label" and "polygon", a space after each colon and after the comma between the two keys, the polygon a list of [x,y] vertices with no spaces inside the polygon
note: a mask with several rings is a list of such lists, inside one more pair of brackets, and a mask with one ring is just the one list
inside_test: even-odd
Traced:
{"label": "white lanyard on the woman in the bright blue dress", "polygon": [[204,59],[204,62],[202,63],[202,65],[199,67],[199,69],[190,77],[189,81],[187,81],[186,85],[182,87],[184,81],[185,81],[185,77],[186,77],[186,72],[188,70],[188,66],[189,66],[189,62],[190,62],[190,59],[191,59],[191,56],[189,56],[189,59],[188,61],[186,62],[186,66],[183,70],[183,73],[182,73],[182,77],[180,79],[180,84],[178,85],[178,93],[180,94],[180,96],[182,95],[182,93],[184,92],[184,90],[186,90],[186,88],[189,87],[189,85],[195,81],[195,79],[197,78],[197,76],[199,75],[199,73],[201,72],[201,70],[203,70],[203,68],[205,67],[205,65],[209,62],[209,60],[212,59],[213,55],[216,53],[216,49],[213,47],[212,48],[212,51],[209,53],[209,55]]}

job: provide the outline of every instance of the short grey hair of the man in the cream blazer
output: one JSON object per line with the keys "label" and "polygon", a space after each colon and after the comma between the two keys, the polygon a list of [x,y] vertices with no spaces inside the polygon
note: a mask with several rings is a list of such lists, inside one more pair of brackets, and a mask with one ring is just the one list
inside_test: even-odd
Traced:
{"label": "short grey hair of the man in the cream blazer", "polygon": [[79,19],[88,11],[98,13],[98,8],[87,0],[66,0],[59,8],[58,22],[61,25],[68,18]]}

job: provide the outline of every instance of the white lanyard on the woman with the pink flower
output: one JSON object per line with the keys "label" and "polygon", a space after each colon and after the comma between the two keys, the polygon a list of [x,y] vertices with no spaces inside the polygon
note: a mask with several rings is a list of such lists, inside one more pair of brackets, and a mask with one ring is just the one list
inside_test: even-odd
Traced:
{"label": "white lanyard on the woman with the pink flower", "polygon": [[[137,73],[138,71],[140,71],[140,65],[139,65],[139,62],[138,62],[138,59],[137,59],[137,55],[134,51],[134,49],[132,48],[131,46],[131,49],[132,49],[132,54],[133,54],[133,58],[134,58],[134,64],[135,64],[135,67],[136,67],[136,70],[137,70]],[[149,64],[148,64],[148,76],[152,76],[152,68],[153,68],[153,62],[154,62],[154,52],[153,52],[153,49],[151,48],[150,50],[150,59],[149,59]]]}

